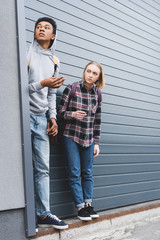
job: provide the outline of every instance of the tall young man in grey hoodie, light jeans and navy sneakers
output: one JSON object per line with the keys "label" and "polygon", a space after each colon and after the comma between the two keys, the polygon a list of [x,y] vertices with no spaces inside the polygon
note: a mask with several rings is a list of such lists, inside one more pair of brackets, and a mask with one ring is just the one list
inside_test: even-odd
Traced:
{"label": "tall young man in grey hoodie, light jeans and navy sneakers", "polygon": [[[68,225],[50,212],[49,136],[58,133],[56,124],[56,89],[65,78],[58,77],[53,59],[56,42],[56,22],[40,18],[35,24],[34,41],[28,51],[28,81],[32,154],[36,191],[37,223],[40,227],[68,228]],[[47,124],[48,112],[52,126]]]}

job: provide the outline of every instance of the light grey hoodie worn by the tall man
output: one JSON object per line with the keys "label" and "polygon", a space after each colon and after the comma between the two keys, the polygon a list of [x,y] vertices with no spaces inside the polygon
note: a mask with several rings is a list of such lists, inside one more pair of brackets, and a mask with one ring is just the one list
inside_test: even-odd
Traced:
{"label": "light grey hoodie worn by the tall man", "polygon": [[45,78],[55,77],[59,73],[59,60],[58,67],[54,73],[53,55],[55,51],[54,40],[49,49],[43,49],[36,40],[30,45],[28,50],[29,70],[29,102],[30,112],[35,115],[41,115],[49,110],[49,117],[56,119],[56,92],[54,88],[43,88],[40,84],[41,80]]}

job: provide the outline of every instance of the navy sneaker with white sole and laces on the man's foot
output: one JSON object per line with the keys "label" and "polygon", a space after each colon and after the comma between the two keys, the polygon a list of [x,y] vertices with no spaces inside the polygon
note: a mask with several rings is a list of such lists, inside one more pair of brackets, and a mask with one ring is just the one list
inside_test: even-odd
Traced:
{"label": "navy sneaker with white sole and laces on the man's foot", "polygon": [[55,215],[48,215],[45,219],[38,217],[38,227],[54,227],[56,229],[66,229],[68,228],[68,224],[60,220]]}

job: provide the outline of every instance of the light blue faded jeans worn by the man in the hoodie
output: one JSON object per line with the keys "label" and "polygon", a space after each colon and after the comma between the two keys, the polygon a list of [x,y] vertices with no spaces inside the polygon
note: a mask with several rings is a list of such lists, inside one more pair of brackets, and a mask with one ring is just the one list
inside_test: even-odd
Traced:
{"label": "light blue faded jeans worn by the man in the hoodie", "polygon": [[34,165],[34,181],[36,193],[36,214],[50,214],[49,187],[49,137],[46,133],[47,119],[43,115],[30,115],[32,136],[32,157]]}

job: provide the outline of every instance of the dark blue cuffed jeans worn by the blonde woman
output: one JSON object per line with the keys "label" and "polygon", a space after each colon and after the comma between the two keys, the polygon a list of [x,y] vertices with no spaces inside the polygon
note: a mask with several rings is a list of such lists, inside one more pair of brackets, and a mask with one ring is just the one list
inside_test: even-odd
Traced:
{"label": "dark blue cuffed jeans worn by the blonde woman", "polygon": [[73,201],[77,207],[93,199],[93,151],[94,143],[83,147],[63,136],[64,151],[68,164],[69,185]]}

